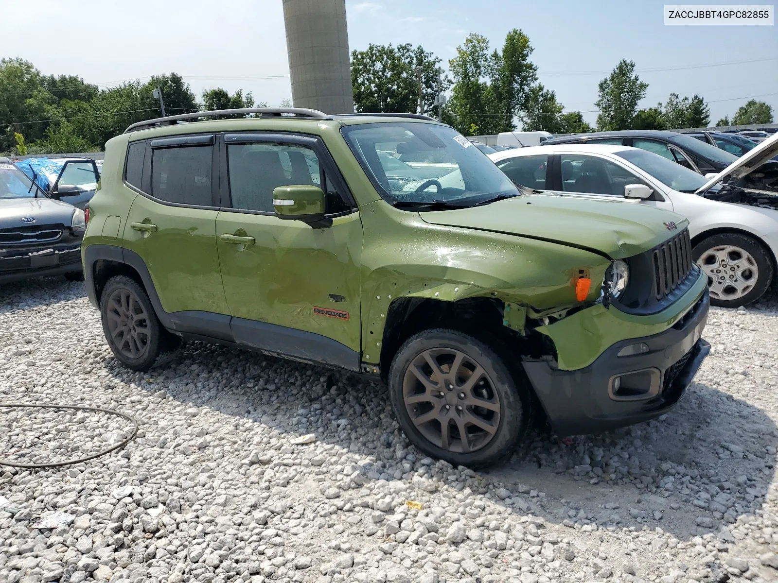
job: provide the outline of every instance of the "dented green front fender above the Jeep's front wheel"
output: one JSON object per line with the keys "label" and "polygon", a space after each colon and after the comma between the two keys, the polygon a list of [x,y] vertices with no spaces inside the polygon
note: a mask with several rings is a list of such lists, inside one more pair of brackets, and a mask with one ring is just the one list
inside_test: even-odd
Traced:
{"label": "dented green front fender above the Jeep's front wheel", "polygon": [[418,213],[383,201],[360,209],[363,250],[363,361],[380,361],[384,325],[398,298],[455,302],[497,298],[534,309],[576,305],[575,281],[592,281],[588,301],[600,295],[610,261],[557,243],[503,233],[432,225]]}

